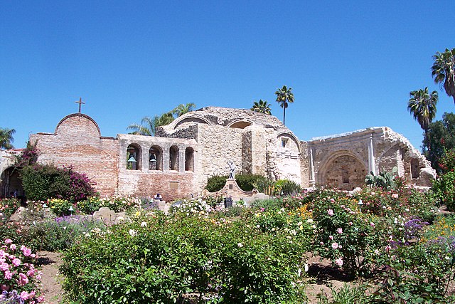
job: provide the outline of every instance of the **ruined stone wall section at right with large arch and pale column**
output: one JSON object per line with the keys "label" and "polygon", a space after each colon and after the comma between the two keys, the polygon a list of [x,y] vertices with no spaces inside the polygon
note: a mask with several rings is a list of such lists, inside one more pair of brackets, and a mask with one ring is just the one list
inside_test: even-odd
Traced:
{"label": "ruined stone wall section at right with large arch and pale column", "polygon": [[[370,173],[368,146],[373,140],[375,174],[398,167],[408,184],[430,187],[436,174],[427,159],[402,135],[388,127],[375,127],[311,140],[316,184],[351,190],[364,184]],[[413,168],[413,169],[412,169]],[[414,176],[414,178],[412,177]]]}

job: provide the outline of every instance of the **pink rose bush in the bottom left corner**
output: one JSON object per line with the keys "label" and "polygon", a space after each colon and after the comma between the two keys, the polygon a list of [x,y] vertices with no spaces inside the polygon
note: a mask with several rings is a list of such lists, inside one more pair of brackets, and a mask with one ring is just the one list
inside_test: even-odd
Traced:
{"label": "pink rose bush in the bottom left corner", "polygon": [[37,290],[41,272],[33,266],[36,258],[30,248],[16,246],[11,239],[3,241],[0,247],[0,288],[3,292],[0,303],[11,299],[19,300],[18,303],[43,303],[44,297]]}

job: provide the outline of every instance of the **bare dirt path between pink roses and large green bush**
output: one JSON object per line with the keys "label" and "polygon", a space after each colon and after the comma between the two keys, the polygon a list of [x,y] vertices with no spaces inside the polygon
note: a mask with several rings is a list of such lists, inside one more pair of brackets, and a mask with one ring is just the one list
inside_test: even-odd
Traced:
{"label": "bare dirt path between pink roses and large green bush", "polygon": [[58,304],[62,300],[63,278],[59,275],[58,268],[62,265],[61,254],[58,252],[39,251],[38,264],[42,267],[41,278],[42,290],[45,296],[45,303]]}

